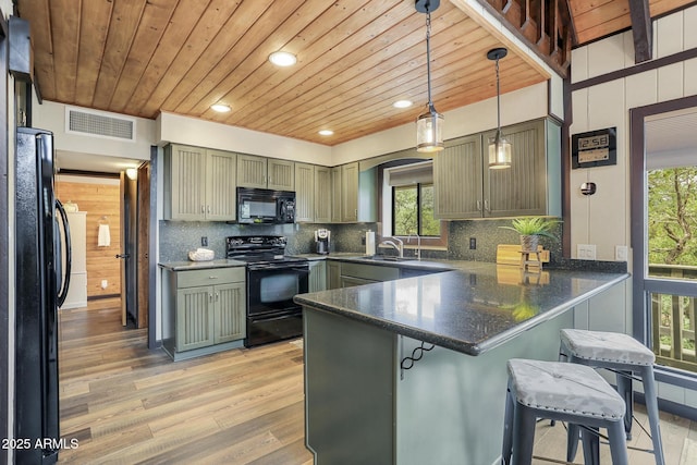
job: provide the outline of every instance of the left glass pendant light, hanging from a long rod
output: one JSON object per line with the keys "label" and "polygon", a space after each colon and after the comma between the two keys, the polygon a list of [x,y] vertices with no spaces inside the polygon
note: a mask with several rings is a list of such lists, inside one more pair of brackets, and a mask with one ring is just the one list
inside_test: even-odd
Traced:
{"label": "left glass pendant light, hanging from a long rod", "polygon": [[416,0],[415,8],[426,13],[426,73],[428,77],[428,105],[426,113],[416,119],[416,150],[439,151],[443,149],[443,115],[436,111],[431,100],[431,11],[436,11],[440,0]]}

